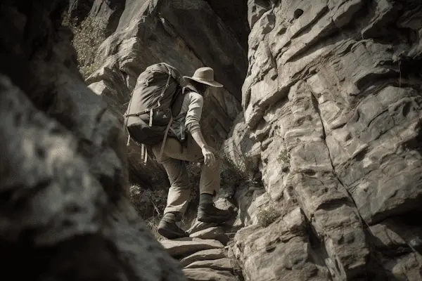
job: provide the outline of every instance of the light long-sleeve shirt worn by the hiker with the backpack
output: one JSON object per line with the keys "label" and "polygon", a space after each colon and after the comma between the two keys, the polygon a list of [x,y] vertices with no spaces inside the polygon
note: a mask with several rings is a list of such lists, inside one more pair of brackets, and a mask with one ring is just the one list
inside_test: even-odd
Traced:
{"label": "light long-sleeve shirt worn by the hiker with the backpack", "polygon": [[173,133],[179,138],[184,140],[184,133],[187,129],[189,133],[194,133],[200,130],[199,121],[203,110],[203,96],[189,89],[184,89],[184,99],[181,104],[179,118],[175,119],[171,129]]}

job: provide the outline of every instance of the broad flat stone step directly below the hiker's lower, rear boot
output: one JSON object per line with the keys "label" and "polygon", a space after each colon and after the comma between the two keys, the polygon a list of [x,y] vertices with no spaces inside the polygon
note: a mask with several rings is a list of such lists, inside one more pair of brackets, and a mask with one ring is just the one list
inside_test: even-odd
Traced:
{"label": "broad flat stone step directly below the hiker's lower, rear boot", "polygon": [[194,237],[183,237],[174,240],[161,240],[160,243],[171,256],[187,256],[196,251],[219,249],[224,245],[217,240],[203,240]]}

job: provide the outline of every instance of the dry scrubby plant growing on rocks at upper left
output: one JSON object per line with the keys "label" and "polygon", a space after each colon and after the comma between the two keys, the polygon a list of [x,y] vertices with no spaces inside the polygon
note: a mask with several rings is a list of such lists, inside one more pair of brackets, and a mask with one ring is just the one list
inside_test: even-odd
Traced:
{"label": "dry scrubby plant growing on rocks at upper left", "polygon": [[100,67],[100,63],[95,58],[98,47],[106,40],[106,29],[93,16],[88,16],[79,24],[75,22],[77,20],[70,19],[66,14],[63,15],[63,25],[70,27],[74,34],[72,44],[77,53],[79,71],[84,79],[87,79]]}

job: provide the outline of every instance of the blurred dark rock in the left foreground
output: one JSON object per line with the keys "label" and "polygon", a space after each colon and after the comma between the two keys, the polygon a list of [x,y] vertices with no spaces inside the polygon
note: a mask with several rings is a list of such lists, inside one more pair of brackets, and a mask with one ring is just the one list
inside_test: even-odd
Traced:
{"label": "blurred dark rock in the left foreground", "polygon": [[120,123],[77,70],[63,1],[41,2],[0,5],[2,272],[186,280],[129,203]]}

